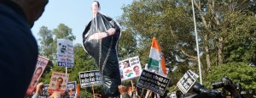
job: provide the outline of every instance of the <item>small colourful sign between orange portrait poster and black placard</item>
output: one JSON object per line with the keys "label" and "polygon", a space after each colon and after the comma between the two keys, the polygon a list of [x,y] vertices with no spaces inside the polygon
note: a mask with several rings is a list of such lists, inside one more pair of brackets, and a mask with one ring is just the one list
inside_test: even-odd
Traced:
{"label": "small colourful sign between orange portrait poster and black placard", "polygon": [[70,98],[75,98],[77,90],[77,81],[67,83],[67,94]]}

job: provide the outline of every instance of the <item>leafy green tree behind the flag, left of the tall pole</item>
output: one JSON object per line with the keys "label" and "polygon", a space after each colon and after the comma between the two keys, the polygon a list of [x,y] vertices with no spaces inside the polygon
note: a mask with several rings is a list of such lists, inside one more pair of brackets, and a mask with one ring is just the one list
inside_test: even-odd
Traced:
{"label": "leafy green tree behind the flag, left of the tall pole", "polygon": [[183,53],[196,54],[193,19],[189,17],[188,8],[173,1],[159,0],[134,1],[123,10],[122,23],[137,38],[142,63],[148,62],[153,36],[159,42],[169,67],[171,64],[195,62]]}

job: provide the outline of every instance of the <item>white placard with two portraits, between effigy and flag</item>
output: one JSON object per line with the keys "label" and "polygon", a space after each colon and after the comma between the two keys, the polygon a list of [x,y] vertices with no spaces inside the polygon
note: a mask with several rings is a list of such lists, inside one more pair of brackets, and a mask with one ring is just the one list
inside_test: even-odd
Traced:
{"label": "white placard with two portraits, between effigy and flag", "polygon": [[131,57],[119,62],[121,80],[139,77],[143,72],[139,57]]}

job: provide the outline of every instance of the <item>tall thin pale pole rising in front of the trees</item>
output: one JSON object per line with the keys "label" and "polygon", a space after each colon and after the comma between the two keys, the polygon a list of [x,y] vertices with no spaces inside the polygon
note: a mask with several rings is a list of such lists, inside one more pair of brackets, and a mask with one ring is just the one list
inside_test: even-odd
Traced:
{"label": "tall thin pale pole rising in front of the trees", "polygon": [[199,77],[200,77],[200,84],[202,84],[201,62],[200,62],[200,56],[199,56],[199,46],[198,46],[197,31],[196,31],[196,24],[195,24],[194,0],[191,0],[191,2],[192,2],[193,19],[194,19],[194,25],[195,25],[195,41],[196,41],[196,51],[197,51],[197,60],[198,60],[198,68],[199,68]]}

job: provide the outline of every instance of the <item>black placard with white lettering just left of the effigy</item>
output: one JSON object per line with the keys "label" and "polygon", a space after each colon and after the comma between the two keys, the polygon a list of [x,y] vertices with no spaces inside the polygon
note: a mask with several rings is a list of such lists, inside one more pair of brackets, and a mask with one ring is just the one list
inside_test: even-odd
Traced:
{"label": "black placard with white lettering just left of the effigy", "polygon": [[101,73],[98,70],[79,73],[81,88],[102,84]]}

